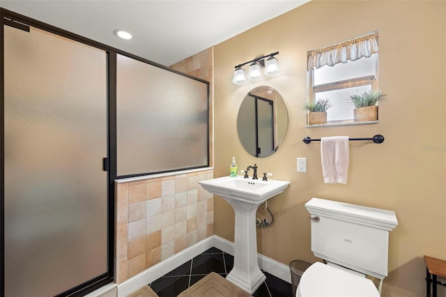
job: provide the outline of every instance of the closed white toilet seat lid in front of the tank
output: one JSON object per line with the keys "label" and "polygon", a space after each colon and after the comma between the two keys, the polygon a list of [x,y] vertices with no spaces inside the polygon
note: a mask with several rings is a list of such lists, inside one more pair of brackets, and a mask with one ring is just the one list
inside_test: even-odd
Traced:
{"label": "closed white toilet seat lid in front of the tank", "polygon": [[316,262],[300,277],[298,297],[379,297],[375,284],[359,275]]}

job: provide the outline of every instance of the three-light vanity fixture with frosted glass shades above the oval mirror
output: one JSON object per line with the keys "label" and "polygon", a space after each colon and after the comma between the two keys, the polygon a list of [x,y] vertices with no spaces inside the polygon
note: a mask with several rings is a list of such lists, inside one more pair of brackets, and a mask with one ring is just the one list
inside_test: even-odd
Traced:
{"label": "three-light vanity fixture with frosted glass shades above the oval mirror", "polygon": [[[279,54],[279,52],[273,52],[271,54],[267,54],[266,56],[259,56],[258,58],[247,61],[245,63],[238,64],[236,66],[236,70],[234,71],[234,78],[232,82],[234,84],[244,84],[249,80],[258,80],[261,79],[262,73],[261,68],[265,68],[263,73],[267,76],[273,76],[280,73],[279,69],[279,61],[275,58],[275,55]],[[266,59],[268,58],[268,59]],[[266,60],[265,60],[266,59]],[[245,70],[243,70],[243,66],[249,65],[248,75],[246,76]]]}

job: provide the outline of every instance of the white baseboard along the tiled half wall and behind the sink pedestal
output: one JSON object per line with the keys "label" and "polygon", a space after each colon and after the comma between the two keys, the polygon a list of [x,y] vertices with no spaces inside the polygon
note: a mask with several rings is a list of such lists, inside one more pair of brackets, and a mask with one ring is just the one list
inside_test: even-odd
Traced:
{"label": "white baseboard along the tiled half wall and behind the sink pedestal", "polygon": [[[199,254],[212,247],[231,255],[234,254],[234,244],[231,241],[227,241],[226,239],[217,235],[210,236],[203,239],[199,243],[196,243],[191,247],[174,254],[172,257],[161,261],[151,268],[130,277],[130,279],[126,280],[125,282],[118,284],[118,297],[124,297],[132,294],[134,291],[137,291],[141,287],[150,284],[154,280],[157,280],[166,273],[169,273],[178,266],[185,264],[190,259],[197,257]],[[259,268],[261,268],[261,270],[266,271],[275,277],[279,277],[285,282],[289,282],[291,284],[291,273],[289,266],[263,256],[263,254],[257,255],[259,259]]]}

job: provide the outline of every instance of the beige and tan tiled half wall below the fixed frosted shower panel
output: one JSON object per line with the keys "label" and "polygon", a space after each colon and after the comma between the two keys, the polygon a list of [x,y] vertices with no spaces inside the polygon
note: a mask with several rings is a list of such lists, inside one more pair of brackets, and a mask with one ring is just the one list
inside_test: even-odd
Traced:
{"label": "beige and tan tiled half wall below the fixed frosted shower panel", "polygon": [[210,178],[212,168],[115,181],[116,283],[213,235],[213,195],[198,183]]}

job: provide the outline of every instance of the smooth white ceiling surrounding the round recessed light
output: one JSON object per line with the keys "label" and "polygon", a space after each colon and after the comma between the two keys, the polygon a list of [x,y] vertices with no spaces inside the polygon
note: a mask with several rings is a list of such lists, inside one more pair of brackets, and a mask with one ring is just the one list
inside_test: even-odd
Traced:
{"label": "smooth white ceiling surrounding the round recessed light", "polygon": [[[170,66],[309,0],[0,0],[0,6]],[[133,33],[122,40],[114,29]]]}

